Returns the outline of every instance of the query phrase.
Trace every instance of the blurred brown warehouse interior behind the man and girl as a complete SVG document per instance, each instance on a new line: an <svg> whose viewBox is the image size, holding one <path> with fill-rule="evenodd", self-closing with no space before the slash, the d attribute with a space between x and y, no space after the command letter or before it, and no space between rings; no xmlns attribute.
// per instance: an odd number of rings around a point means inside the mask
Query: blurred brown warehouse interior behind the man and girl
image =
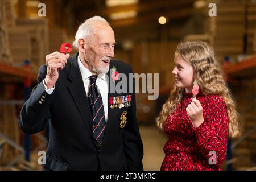
<svg viewBox="0 0 256 182"><path fill-rule="evenodd" d="M210 14L214 5L216 16ZM116 59L134 73L159 73L159 97L138 93L136 100L144 170L158 171L164 158L167 135L155 118L174 86L174 52L182 40L213 46L236 100L242 135L229 140L222 169L256 170L256 1L0 0L0 171L42 170L46 132L25 135L20 109L46 55L72 43L79 25L95 15L115 32Z"/></svg>

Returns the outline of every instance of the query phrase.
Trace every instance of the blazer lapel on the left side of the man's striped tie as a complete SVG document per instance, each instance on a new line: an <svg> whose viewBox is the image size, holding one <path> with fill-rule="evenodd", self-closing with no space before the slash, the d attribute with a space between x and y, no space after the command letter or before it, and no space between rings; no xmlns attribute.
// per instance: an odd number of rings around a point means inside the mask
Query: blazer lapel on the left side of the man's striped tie
<svg viewBox="0 0 256 182"><path fill-rule="evenodd" d="M71 80L71 84L68 85L68 89L79 109L89 134L92 134L92 114L90 112L89 102L86 96L79 65L77 63L77 56L78 53L73 56L71 60L71 68L68 76L69 80Z"/></svg>

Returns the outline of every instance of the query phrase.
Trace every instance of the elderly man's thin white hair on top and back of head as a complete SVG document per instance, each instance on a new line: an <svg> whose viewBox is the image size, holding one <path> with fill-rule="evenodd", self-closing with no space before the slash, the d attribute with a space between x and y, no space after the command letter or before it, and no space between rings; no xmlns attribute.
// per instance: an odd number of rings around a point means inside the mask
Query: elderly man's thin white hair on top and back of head
<svg viewBox="0 0 256 182"><path fill-rule="evenodd" d="M92 36L93 32L95 31L97 22L106 23L109 25L109 22L107 22L107 20L101 16L93 16L92 18L86 19L84 23L79 26L76 32L75 41L72 44L76 49L78 49L77 42L80 38L88 38Z"/></svg>

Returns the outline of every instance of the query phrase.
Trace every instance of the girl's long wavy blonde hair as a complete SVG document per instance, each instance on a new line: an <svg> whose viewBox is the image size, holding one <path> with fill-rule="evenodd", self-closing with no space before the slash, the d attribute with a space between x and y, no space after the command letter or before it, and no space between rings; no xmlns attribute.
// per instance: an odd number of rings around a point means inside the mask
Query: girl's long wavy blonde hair
<svg viewBox="0 0 256 182"><path fill-rule="evenodd" d="M199 88L204 95L217 94L224 98L228 107L229 136L238 137L240 135L240 124L238 122L236 104L225 83L212 46L202 41L181 42L177 46L176 54L192 66L194 78L197 80ZM184 88L176 88L176 86L171 90L170 97L164 103L162 111L156 118L156 125L160 129L164 129L166 118L176 109L176 105L181 101L184 92Z"/></svg>

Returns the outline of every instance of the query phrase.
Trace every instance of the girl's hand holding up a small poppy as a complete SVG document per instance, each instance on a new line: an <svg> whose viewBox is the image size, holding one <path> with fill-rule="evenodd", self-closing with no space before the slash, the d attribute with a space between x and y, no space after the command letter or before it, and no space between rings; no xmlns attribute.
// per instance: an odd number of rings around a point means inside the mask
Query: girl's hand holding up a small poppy
<svg viewBox="0 0 256 182"><path fill-rule="evenodd" d="M199 127L204 122L203 107L196 98L192 98L192 102L188 105L186 111L194 127Z"/></svg>

